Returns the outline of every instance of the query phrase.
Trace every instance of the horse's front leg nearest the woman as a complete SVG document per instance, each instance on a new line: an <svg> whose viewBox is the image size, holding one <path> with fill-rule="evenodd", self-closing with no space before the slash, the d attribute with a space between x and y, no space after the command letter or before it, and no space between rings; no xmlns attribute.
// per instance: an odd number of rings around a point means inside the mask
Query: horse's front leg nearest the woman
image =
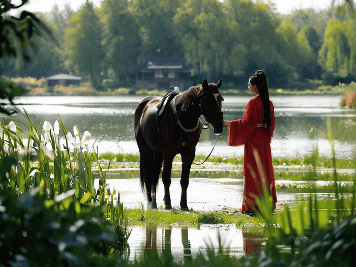
<svg viewBox="0 0 356 267"><path fill-rule="evenodd" d="M182 156L182 176L181 176L181 188L182 188L182 195L181 195L181 209L188 211L187 205L187 188L189 185L189 173L190 168L192 166L194 157L195 157L195 149L190 150L187 153L181 153Z"/></svg>

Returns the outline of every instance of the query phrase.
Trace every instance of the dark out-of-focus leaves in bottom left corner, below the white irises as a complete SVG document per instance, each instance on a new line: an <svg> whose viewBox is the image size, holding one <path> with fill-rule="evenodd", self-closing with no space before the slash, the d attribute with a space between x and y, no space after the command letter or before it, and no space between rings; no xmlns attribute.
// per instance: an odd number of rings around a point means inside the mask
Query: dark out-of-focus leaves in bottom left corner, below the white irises
<svg viewBox="0 0 356 267"><path fill-rule="evenodd" d="M4 158L2 159L4 160ZM1 181L11 165L1 164ZM3 186L6 186L2 183ZM98 219L102 207L87 206L71 198L73 191L46 199L41 188L18 196L10 190L0 198L0 249L3 266L83 266L100 262L98 244L111 246L115 236ZM106 252L107 254L107 252ZM45 255L45 256L44 256ZM115 266L114 257L104 260Z"/></svg>

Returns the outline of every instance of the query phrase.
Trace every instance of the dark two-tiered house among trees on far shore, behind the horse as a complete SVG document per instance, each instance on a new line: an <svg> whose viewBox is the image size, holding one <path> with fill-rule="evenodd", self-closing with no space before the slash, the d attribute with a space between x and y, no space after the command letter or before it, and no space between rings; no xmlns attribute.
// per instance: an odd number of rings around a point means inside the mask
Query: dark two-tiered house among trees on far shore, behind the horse
<svg viewBox="0 0 356 267"><path fill-rule="evenodd" d="M184 57L153 56L132 68L130 77L142 88L154 86L158 90L173 90L178 86L184 91L193 86L191 69L185 64Z"/></svg>

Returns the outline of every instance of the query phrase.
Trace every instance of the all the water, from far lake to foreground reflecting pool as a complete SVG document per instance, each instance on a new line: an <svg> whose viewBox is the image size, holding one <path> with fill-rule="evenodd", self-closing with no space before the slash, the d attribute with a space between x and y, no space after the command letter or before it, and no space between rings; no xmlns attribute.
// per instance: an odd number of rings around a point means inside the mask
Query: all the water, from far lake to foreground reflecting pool
<svg viewBox="0 0 356 267"><path fill-rule="evenodd" d="M32 120L43 123L45 120L54 123L58 114L67 131L73 133L76 124L81 133L90 131L91 143L98 145L99 153L138 153L134 137L134 110L141 96L41 96L20 97L14 102L17 108L24 108ZM223 112L225 120L241 118L251 97L224 97ZM335 135L337 157L352 157L356 145L355 123L356 110L340 109L341 96L283 96L272 97L275 105L276 130L271 149L273 157L291 157L309 155L314 146L318 145L321 156L331 156L330 143L320 135L313 137L311 128L319 128L327 132L327 117L330 116ZM3 117L2 123L14 120L16 125L25 122L20 116ZM314 131L315 132L315 131ZM202 132L197 146L197 154L210 153L216 136L212 129ZM244 153L243 146L226 145L226 132L220 138L212 156L240 157ZM288 183L277 181L278 183ZM141 192L138 177L136 179L107 180L111 189L120 190L121 202L127 208L140 207L146 203ZM95 181L98 188L98 180ZM157 204L163 206L163 184L159 180ZM171 201L179 206L181 187L180 179L172 179ZM196 211L220 211L224 207L239 208L243 196L242 180L239 179L206 179L191 177L188 187L188 206ZM278 205L294 205L306 193L277 193ZM331 194L317 194L318 199L330 198ZM244 255L257 252L265 242L260 233L250 231L248 227L236 228L232 225L201 225L200 229L184 225L144 224L130 226L129 259L141 253L152 252L160 257L172 256L175 261L191 260L206 248L206 243L215 250L219 248L218 234L224 241L224 253Z"/></svg>

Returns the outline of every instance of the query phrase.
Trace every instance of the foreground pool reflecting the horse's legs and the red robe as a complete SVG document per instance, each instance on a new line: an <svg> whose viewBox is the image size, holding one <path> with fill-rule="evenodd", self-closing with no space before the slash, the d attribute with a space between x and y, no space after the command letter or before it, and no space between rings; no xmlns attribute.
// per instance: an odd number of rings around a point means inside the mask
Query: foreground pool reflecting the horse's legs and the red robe
<svg viewBox="0 0 356 267"><path fill-rule="evenodd" d="M258 252L266 241L261 233L250 231L250 227L236 228L233 225L157 225L147 223L142 226L130 226L132 229L128 244L129 260L134 260L145 253L154 253L161 259L173 257L175 262L190 261L202 252L206 255L207 247L218 252L242 256ZM220 242L219 242L220 236Z"/></svg>

